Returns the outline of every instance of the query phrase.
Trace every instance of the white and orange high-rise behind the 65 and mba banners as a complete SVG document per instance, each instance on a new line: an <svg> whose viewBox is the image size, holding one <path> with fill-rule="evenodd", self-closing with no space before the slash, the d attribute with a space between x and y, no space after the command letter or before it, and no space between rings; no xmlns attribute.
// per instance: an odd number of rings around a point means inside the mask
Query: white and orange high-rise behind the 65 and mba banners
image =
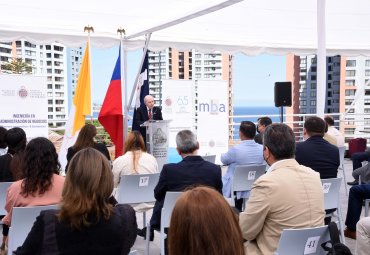
<svg viewBox="0 0 370 255"><path fill-rule="evenodd" d="M168 48L161 52L149 52L149 93L155 104L162 104L162 80L225 80L229 85L229 114L232 115L232 56L196 50L178 51ZM195 88L196 93L196 88ZM197 109L195 109L197 111ZM195 117L196 119L196 117ZM230 120L231 121L231 120ZM230 138L232 130L230 130Z"/></svg>

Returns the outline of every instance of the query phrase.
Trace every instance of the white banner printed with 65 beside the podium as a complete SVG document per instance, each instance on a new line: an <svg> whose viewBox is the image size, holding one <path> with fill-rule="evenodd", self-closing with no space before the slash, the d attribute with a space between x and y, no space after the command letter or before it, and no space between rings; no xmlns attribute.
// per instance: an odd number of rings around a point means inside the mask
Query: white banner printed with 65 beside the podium
<svg viewBox="0 0 370 255"><path fill-rule="evenodd" d="M162 115L172 120L169 126L169 146L176 148L176 134L194 129L194 81L162 81Z"/></svg>

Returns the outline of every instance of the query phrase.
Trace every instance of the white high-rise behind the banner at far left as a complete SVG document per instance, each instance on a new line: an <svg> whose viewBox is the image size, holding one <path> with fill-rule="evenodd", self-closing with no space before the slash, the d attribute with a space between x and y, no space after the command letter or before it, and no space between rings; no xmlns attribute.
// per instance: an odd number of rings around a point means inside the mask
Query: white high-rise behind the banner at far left
<svg viewBox="0 0 370 255"><path fill-rule="evenodd" d="M32 74L47 76L49 126L64 126L68 118L69 87L76 84L82 61L81 48L67 49L58 43L37 45L20 40L0 43L0 57L0 65L20 58L32 67Z"/></svg>

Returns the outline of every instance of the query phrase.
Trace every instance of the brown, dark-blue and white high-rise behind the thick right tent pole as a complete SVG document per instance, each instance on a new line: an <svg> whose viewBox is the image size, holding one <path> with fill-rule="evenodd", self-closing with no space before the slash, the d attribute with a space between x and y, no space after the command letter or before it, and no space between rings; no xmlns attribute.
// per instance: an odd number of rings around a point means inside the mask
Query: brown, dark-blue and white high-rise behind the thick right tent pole
<svg viewBox="0 0 370 255"><path fill-rule="evenodd" d="M370 131L370 88L364 84L370 78L370 58L333 56L326 58L325 113L344 114L341 131L346 141L363 131ZM287 80L292 81L292 107L287 114L316 113L316 56L287 56ZM358 92L355 100L356 91ZM354 104L353 104L354 102ZM353 104L353 105L352 105ZM339 120L339 116L335 117ZM287 121L299 121L299 117L288 117ZM296 124L295 128L298 128ZM362 133L363 134L363 133Z"/></svg>

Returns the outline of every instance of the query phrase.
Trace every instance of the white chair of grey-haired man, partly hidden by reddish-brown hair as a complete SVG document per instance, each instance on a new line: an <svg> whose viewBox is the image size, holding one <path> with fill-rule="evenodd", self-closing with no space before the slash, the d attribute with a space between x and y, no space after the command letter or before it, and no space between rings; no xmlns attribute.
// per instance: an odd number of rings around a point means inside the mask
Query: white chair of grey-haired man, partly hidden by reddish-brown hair
<svg viewBox="0 0 370 255"><path fill-rule="evenodd" d="M173 208L175 207L177 198L182 194L182 192L171 192L166 193L164 198L164 203L161 213L161 228L160 228L160 242L161 242L161 254L165 254L164 239L166 234L164 233L165 228L170 227L171 215ZM147 232L148 233L148 232ZM149 236L147 236L148 239Z"/></svg>

